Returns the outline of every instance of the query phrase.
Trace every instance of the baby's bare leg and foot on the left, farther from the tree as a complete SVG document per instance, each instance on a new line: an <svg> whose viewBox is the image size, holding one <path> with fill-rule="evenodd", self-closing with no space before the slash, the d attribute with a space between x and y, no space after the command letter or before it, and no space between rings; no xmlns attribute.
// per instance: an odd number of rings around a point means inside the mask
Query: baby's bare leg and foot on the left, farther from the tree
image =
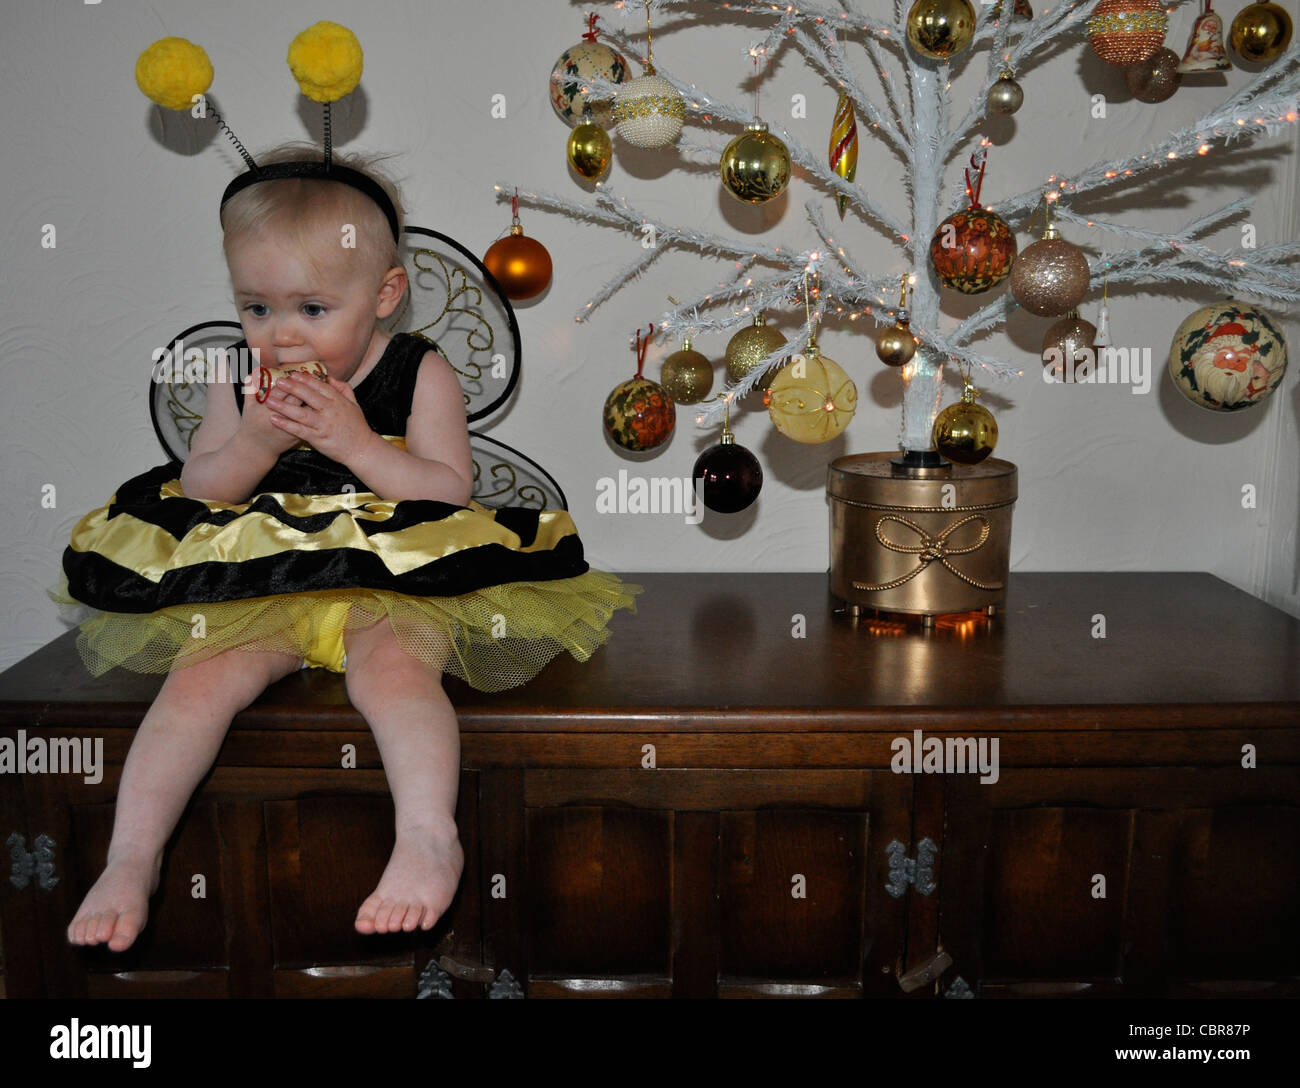
<svg viewBox="0 0 1300 1088"><path fill-rule="evenodd" d="M162 848L217 758L235 714L302 664L287 654L228 651L168 673L122 767L108 863L68 927L74 945L130 948L157 890Z"/></svg>

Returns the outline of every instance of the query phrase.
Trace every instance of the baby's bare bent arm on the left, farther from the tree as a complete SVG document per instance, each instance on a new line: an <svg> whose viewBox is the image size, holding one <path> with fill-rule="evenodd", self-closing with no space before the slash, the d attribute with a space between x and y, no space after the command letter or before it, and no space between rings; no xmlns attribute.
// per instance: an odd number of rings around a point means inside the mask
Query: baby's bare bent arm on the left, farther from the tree
<svg viewBox="0 0 1300 1088"><path fill-rule="evenodd" d="M298 438L270 421L270 399L259 404L256 398L246 396L240 413L230 389L233 381L238 381L237 374L218 373L208 382L203 422L181 473L181 489L190 498L242 503L276 459L298 445Z"/></svg>

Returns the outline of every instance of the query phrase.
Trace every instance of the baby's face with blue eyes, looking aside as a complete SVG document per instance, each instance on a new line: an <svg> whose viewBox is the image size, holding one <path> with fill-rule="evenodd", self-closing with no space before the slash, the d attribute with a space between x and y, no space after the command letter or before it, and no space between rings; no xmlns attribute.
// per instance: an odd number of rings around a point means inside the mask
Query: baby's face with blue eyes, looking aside
<svg viewBox="0 0 1300 1088"><path fill-rule="evenodd" d="M339 250L317 274L296 239L268 234L226 247L239 324L263 364L318 359L339 381L356 373L374 334L378 285L364 255Z"/></svg>

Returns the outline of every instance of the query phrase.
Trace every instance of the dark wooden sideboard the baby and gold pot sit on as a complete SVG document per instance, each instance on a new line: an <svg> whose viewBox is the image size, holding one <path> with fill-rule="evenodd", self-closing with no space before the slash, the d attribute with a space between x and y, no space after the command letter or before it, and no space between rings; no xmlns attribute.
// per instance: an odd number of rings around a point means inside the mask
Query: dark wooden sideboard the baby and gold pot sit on
<svg viewBox="0 0 1300 1088"><path fill-rule="evenodd" d="M105 763L0 775L8 994L1300 994L1300 620L1196 573L1013 573L931 630L824 575L625 577L586 664L448 681L465 875L430 933L352 929L393 807L304 671L235 719L136 945L68 945L160 680L90 679L73 633L0 675L0 737ZM996 781L892 766L959 738Z"/></svg>

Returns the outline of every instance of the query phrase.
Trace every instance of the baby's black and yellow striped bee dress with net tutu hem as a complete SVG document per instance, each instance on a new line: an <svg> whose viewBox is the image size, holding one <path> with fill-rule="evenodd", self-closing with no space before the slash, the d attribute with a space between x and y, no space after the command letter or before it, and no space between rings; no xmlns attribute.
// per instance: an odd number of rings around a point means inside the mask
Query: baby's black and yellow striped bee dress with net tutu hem
<svg viewBox="0 0 1300 1088"><path fill-rule="evenodd" d="M426 341L399 333L354 390L406 448ZM243 396L234 386L243 411ZM641 586L593 571L563 510L390 502L309 447L280 456L243 503L188 498L181 463L129 480L64 551L55 601L88 606L86 667L168 672L225 650L273 650L342 672L343 633L387 619L402 649L474 688L586 660Z"/></svg>

